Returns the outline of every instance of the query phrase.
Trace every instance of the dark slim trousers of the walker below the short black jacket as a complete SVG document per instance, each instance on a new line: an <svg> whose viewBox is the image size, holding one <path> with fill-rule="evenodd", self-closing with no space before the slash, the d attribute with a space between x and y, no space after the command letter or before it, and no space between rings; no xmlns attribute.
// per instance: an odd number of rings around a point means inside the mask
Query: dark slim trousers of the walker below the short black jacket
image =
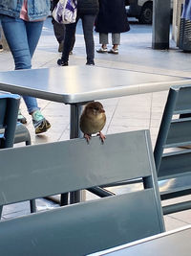
<svg viewBox="0 0 191 256"><path fill-rule="evenodd" d="M68 62L69 60L69 54L74 42L76 24L79 18L81 18L82 20L83 34L84 34L84 40L86 45L87 61L94 62L95 41L94 41L93 30L94 30L96 15L87 15L87 14L77 15L75 23L66 25L66 34L65 34L65 40L64 40L64 49L62 53L62 60L64 62Z"/></svg>

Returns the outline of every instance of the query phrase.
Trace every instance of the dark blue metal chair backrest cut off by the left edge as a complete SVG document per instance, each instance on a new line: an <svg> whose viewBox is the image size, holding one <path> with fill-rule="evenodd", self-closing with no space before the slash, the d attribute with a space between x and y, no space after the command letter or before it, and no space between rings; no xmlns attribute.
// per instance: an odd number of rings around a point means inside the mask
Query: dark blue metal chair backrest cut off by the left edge
<svg viewBox="0 0 191 256"><path fill-rule="evenodd" d="M0 94L0 149L13 146L19 102L19 95Z"/></svg>

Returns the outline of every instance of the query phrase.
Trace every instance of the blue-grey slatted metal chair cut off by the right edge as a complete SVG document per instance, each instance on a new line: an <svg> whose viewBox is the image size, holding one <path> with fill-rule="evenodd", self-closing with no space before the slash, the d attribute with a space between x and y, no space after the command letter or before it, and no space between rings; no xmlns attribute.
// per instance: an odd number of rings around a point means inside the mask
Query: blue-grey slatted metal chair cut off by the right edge
<svg viewBox="0 0 191 256"><path fill-rule="evenodd" d="M154 151L162 200L191 195L191 85L169 90ZM168 152L165 152L168 150ZM191 209L191 200L163 207L164 214Z"/></svg>

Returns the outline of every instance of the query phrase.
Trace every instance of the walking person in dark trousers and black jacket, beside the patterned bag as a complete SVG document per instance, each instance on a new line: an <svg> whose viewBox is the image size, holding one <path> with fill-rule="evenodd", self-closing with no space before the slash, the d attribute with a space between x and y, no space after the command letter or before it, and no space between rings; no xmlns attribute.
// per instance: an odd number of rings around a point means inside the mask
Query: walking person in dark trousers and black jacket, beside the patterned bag
<svg viewBox="0 0 191 256"><path fill-rule="evenodd" d="M57 60L57 64L68 66L69 54L73 45L73 38L78 20L81 18L84 40L86 45L87 65L95 65L95 41L94 26L96 14L98 13L98 0L77 0L77 16L75 23L66 25L66 35L62 58Z"/></svg>

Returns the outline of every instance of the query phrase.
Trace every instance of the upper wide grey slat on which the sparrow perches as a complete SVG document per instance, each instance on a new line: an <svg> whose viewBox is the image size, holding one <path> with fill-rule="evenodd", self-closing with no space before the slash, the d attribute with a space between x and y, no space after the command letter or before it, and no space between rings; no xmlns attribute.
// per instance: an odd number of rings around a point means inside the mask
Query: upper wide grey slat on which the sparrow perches
<svg viewBox="0 0 191 256"><path fill-rule="evenodd" d="M0 205L150 175L145 132L0 151Z"/></svg>

